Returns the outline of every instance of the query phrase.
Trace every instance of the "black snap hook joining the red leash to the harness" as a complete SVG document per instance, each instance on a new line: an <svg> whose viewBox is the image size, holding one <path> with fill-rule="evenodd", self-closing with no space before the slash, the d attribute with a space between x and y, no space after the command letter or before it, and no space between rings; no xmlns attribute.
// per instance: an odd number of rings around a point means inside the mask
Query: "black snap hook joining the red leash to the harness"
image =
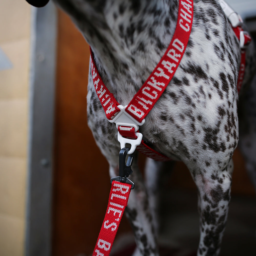
<svg viewBox="0 0 256 256"><path fill-rule="evenodd" d="M133 155L129 155L127 162L125 164L125 158L127 156L128 151L130 148L124 147L120 150L119 153L119 176L111 178L110 182L112 183L113 180L117 180L119 182L131 184L131 189L134 189L135 184L128 179L129 175L132 174L132 162L133 162Z"/></svg>

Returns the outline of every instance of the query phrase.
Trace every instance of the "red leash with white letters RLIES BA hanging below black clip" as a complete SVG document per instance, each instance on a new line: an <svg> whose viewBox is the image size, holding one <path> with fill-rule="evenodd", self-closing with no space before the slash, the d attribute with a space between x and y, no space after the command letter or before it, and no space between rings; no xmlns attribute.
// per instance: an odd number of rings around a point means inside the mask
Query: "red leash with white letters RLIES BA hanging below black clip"
<svg viewBox="0 0 256 256"><path fill-rule="evenodd" d="M131 184L113 181L111 185L108 208L92 256L110 254L116 232L131 192Z"/></svg>

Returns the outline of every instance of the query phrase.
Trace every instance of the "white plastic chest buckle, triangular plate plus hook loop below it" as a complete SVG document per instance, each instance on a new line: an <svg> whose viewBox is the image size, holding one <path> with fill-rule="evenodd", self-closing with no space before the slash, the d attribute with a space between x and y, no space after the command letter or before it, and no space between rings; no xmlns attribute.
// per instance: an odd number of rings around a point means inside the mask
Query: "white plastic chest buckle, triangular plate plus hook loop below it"
<svg viewBox="0 0 256 256"><path fill-rule="evenodd" d="M136 147L141 144L142 134L136 131L138 131L139 125L143 125L145 123L145 119L143 119L141 122L138 122L136 119L134 119L130 114L128 114L125 111L126 107L127 105L126 106L118 105L120 112L112 120L109 120L109 122L115 123L116 128L118 128L118 126L134 127L135 134L137 136L135 140L124 138L119 132L117 136L117 139L120 142L121 148L124 148L126 143L131 144L131 149L127 153L128 155L131 155L135 151Z"/></svg>

